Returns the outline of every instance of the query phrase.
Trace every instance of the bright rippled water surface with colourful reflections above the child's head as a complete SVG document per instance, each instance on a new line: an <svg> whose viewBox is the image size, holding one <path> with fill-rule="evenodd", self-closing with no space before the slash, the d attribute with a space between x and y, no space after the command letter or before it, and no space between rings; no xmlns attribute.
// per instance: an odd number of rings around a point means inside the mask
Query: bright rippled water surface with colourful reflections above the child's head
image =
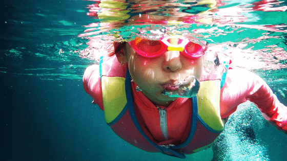
<svg viewBox="0 0 287 161"><path fill-rule="evenodd" d="M85 26L88 29L79 35L89 39L89 47L80 54L84 58L98 59L98 53L105 52L94 51L110 50L113 41L184 35L208 41L213 52L225 51L235 58L236 66L264 70L287 66L285 2L94 2L88 6L87 15L95 22Z"/></svg>

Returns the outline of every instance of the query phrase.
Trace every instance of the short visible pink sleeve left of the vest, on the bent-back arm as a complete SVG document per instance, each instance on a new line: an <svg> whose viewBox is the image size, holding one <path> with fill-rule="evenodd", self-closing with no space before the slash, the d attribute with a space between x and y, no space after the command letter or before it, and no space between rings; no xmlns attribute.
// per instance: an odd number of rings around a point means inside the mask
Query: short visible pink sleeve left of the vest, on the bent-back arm
<svg viewBox="0 0 287 161"><path fill-rule="evenodd" d="M83 85L86 92L94 99L93 103L97 104L101 110L104 110L99 65L94 64L86 68L83 76Z"/></svg>

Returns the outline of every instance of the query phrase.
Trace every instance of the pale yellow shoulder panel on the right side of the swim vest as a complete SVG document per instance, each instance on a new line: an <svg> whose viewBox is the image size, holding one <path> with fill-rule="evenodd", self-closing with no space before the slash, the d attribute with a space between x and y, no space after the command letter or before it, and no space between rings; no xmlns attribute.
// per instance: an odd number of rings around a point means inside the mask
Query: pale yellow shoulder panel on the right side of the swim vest
<svg viewBox="0 0 287 161"><path fill-rule="evenodd" d="M200 118L212 129L222 131L224 125L220 117L220 80L200 82L197 105Z"/></svg>

